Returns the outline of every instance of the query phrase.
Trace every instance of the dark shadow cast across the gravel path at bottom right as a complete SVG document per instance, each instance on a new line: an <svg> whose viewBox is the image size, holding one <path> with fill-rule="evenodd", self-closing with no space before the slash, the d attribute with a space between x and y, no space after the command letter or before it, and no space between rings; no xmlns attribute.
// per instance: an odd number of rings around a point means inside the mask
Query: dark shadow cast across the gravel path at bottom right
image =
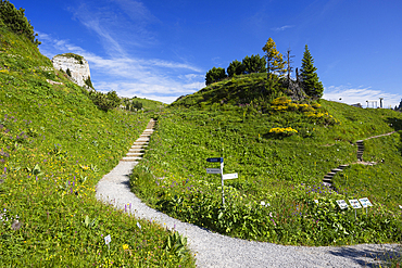
<svg viewBox="0 0 402 268"><path fill-rule="evenodd" d="M384 245L381 248L375 248L374 246L372 248L369 247L370 245L365 246L365 248L337 247L328 251L328 254L350 258L362 267L388 267L392 260L398 260L400 265L402 265L401 245Z"/></svg>

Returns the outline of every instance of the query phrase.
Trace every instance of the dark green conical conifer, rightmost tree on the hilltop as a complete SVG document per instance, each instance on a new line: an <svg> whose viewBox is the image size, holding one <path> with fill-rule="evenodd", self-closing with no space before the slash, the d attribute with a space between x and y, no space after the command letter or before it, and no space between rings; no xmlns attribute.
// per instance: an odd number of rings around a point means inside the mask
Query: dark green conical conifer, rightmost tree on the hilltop
<svg viewBox="0 0 402 268"><path fill-rule="evenodd" d="M313 98L322 98L324 92L323 84L318 80L317 68L313 65L314 59L309 51L307 44L302 60L302 67L300 69L301 81L305 93Z"/></svg>

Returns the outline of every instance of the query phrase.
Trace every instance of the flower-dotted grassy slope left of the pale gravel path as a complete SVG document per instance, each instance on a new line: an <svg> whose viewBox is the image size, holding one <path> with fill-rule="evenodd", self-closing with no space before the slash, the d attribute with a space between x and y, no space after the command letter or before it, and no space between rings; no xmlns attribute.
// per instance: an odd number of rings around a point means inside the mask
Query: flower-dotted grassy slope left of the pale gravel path
<svg viewBox="0 0 402 268"><path fill-rule="evenodd" d="M193 267L165 229L95 199L149 116L99 110L1 24L0 41L0 266Z"/></svg>

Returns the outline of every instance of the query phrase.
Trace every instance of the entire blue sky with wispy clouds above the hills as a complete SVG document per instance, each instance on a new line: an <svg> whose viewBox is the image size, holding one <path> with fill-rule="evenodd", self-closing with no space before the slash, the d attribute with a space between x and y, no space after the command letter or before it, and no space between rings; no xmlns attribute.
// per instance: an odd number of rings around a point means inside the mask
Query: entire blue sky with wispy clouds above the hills
<svg viewBox="0 0 402 268"><path fill-rule="evenodd" d="M262 55L271 37L282 54L292 50L294 67L309 46L325 99L402 99L400 0L11 2L26 10L45 55L85 56L103 92L171 103L204 87L210 68Z"/></svg>

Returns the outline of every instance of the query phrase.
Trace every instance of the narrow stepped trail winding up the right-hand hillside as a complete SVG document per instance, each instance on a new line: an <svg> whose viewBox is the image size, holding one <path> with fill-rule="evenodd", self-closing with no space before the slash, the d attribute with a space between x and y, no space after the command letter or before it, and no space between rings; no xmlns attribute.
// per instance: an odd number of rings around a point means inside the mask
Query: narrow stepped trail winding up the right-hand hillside
<svg viewBox="0 0 402 268"><path fill-rule="evenodd" d="M353 163L350 163L350 164L339 165L338 167L332 168L329 173L327 173L326 175L324 175L323 184L326 186L326 187L329 187L332 190L337 190L334 187L334 184L332 184L332 178L334 178L334 176L337 173L343 171L343 169L346 167L348 167L349 165L365 165L365 166L374 166L374 165L377 165L376 162L363 161L364 141L365 140L370 140L370 139L377 139L377 138L385 137L385 136L390 136L390 135L393 135L394 132L397 132L397 131L391 131L391 132L384 133L384 135L377 135L377 136L368 137L366 139L356 141L356 144L357 144L357 153L356 153L357 154L357 162L353 162Z"/></svg>

